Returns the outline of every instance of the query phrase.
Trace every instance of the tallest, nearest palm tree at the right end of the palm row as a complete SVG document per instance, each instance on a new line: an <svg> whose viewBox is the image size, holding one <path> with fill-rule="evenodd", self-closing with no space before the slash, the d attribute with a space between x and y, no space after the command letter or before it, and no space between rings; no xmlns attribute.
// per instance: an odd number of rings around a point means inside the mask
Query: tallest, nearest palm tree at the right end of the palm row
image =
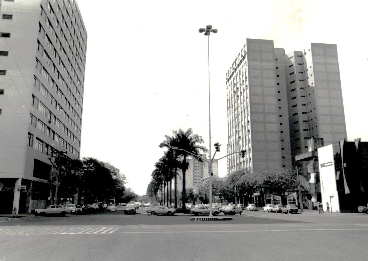
<svg viewBox="0 0 368 261"><path fill-rule="evenodd" d="M192 128L187 129L186 131L179 129L174 130L174 140L176 143L176 147L179 149L186 150L194 155L199 155L199 151L207 152L208 150L206 147L201 146L199 144L204 143L204 140L202 136L199 136L198 134L194 134ZM181 170L183 171L183 191L182 191L182 197L183 197L183 207L182 211L186 211L185 203L187 203L187 195L185 193L185 171L188 169L187 164L187 156L188 153L183 150L177 150L178 155L183 156L183 164L181 164Z"/></svg>

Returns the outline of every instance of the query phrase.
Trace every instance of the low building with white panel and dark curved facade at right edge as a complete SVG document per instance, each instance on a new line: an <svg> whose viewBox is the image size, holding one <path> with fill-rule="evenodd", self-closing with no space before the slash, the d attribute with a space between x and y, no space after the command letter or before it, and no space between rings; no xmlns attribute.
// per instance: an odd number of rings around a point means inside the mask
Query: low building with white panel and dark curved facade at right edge
<svg viewBox="0 0 368 261"><path fill-rule="evenodd" d="M368 202L368 142L341 140L318 149L321 201L334 212L357 212Z"/></svg>

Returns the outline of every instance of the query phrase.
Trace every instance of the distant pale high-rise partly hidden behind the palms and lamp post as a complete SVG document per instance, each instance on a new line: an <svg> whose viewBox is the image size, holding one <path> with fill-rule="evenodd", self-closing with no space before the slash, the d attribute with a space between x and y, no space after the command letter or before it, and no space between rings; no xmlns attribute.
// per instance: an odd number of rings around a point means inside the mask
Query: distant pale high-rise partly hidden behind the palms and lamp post
<svg viewBox="0 0 368 261"><path fill-rule="evenodd" d="M206 158L206 154L201 154L201 157ZM201 185L201 179L208 177L208 163L200 162L197 158L187 158L188 169L185 172L185 187L186 189L192 189L193 187L199 187ZM183 190L183 173L180 169L177 170L178 180L177 180L177 190ZM212 164L213 176L219 176L218 161Z"/></svg>

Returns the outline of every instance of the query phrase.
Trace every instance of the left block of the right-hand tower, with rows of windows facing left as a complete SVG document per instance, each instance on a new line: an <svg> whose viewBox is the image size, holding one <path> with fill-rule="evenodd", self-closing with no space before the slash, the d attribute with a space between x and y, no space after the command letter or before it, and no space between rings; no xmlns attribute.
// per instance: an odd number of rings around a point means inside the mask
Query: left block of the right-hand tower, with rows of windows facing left
<svg viewBox="0 0 368 261"><path fill-rule="evenodd" d="M282 51L272 40L247 39L227 71L227 150L245 150L228 157L228 174L291 165Z"/></svg>

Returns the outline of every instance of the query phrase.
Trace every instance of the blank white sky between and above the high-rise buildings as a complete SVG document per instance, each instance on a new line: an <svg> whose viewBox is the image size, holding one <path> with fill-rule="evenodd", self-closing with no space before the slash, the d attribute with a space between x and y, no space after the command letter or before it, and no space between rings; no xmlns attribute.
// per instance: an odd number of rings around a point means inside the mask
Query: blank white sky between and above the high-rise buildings
<svg viewBox="0 0 368 261"><path fill-rule="evenodd" d="M158 147L192 128L208 147L207 37L211 143L226 155L226 72L247 38L286 53L337 44L347 138L368 141L367 1L77 0L88 33L81 157L111 162L127 187L146 193ZM212 149L212 153L214 150ZM226 175L226 158L219 176Z"/></svg>

